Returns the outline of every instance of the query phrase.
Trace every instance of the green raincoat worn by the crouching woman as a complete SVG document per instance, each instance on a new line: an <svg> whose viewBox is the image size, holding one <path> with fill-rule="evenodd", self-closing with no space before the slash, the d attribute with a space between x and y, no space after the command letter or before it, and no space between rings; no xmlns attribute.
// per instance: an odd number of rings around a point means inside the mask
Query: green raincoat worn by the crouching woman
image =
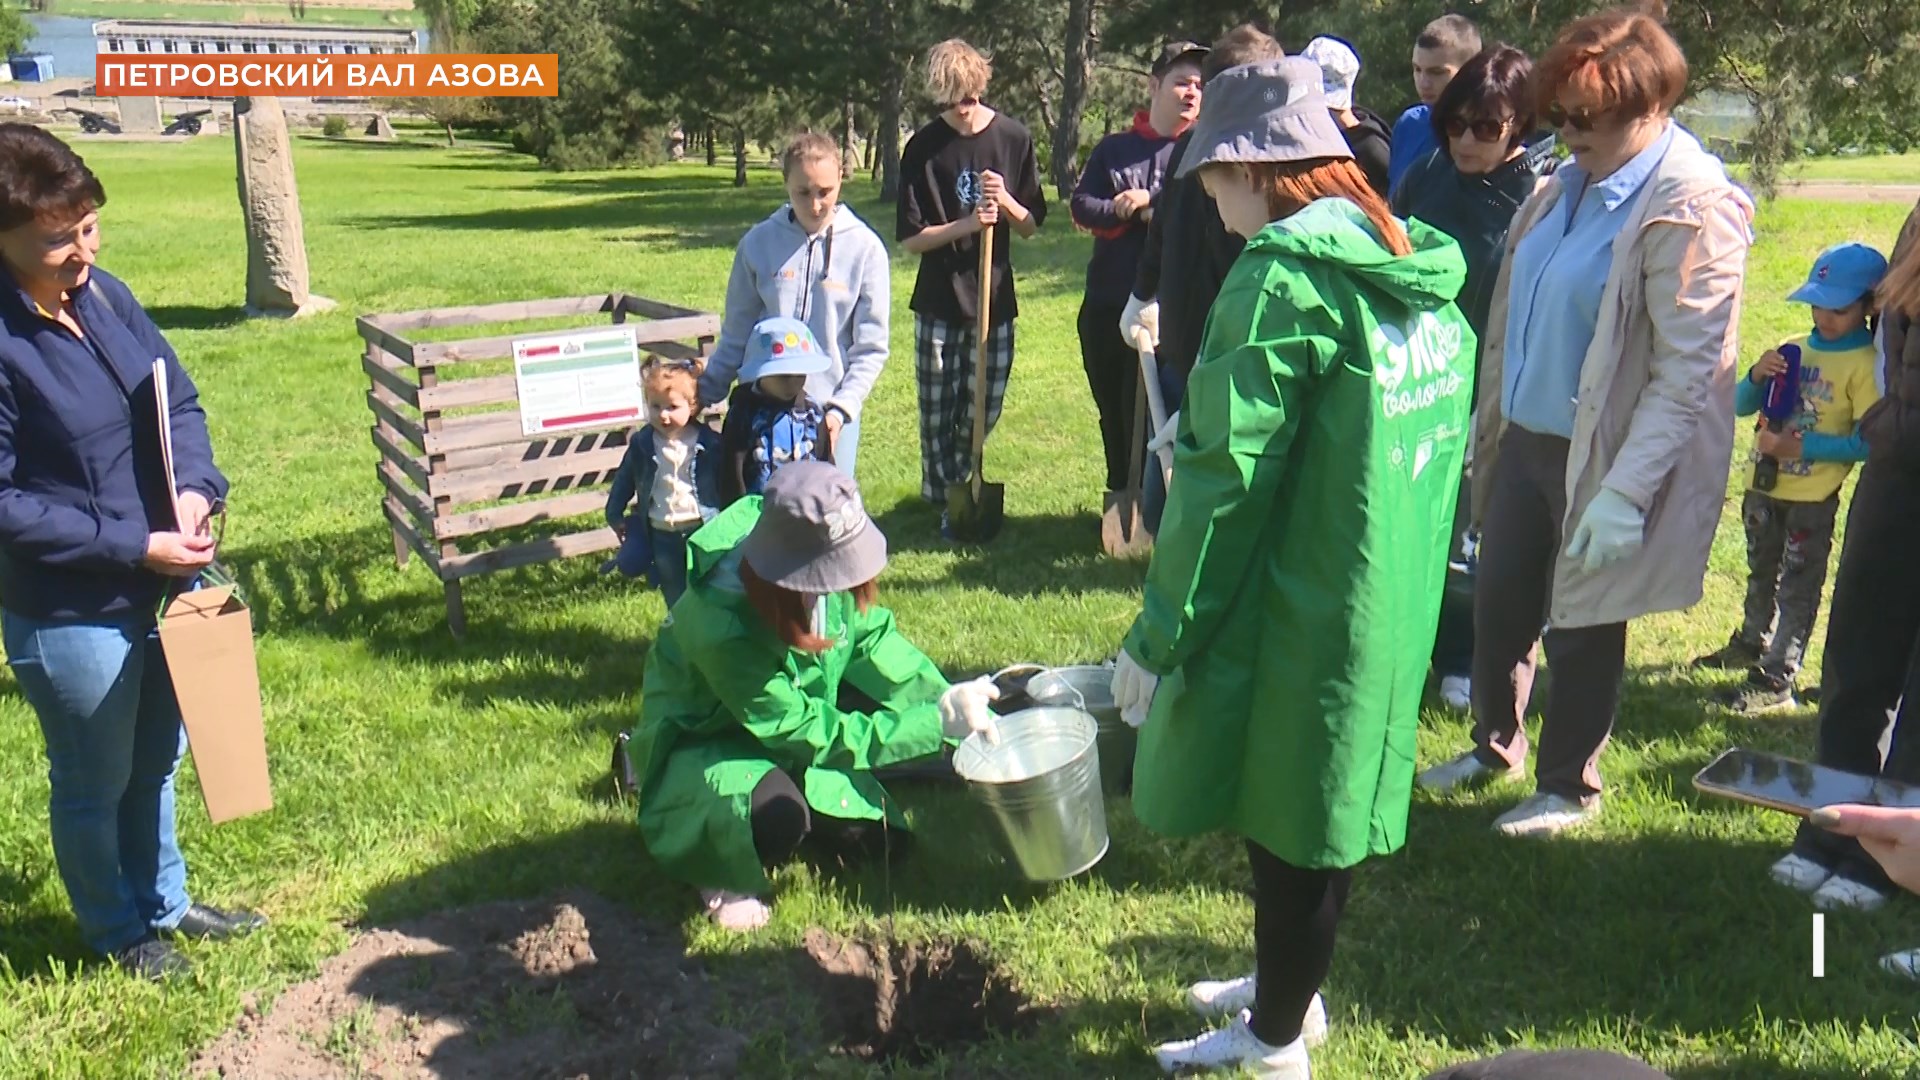
<svg viewBox="0 0 1920 1080"><path fill-rule="evenodd" d="M828 596L824 653L791 650L747 601L735 548L760 519L747 496L687 540L691 573L647 653L645 701L628 753L639 830L666 872L701 888L764 894L749 798L785 769L818 815L906 822L868 773L939 751L947 678L883 607ZM851 684L877 713L837 707ZM885 807L885 811L883 811Z"/></svg>

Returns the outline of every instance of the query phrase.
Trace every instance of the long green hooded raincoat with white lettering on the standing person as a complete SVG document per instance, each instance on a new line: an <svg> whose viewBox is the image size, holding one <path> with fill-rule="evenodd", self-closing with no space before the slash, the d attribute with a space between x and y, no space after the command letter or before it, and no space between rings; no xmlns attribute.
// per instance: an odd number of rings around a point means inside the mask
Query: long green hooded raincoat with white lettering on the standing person
<svg viewBox="0 0 1920 1080"><path fill-rule="evenodd" d="M1187 386L1125 648L1162 676L1133 807L1296 867L1405 842L1467 448L1459 246L1321 200L1248 240Z"/></svg>

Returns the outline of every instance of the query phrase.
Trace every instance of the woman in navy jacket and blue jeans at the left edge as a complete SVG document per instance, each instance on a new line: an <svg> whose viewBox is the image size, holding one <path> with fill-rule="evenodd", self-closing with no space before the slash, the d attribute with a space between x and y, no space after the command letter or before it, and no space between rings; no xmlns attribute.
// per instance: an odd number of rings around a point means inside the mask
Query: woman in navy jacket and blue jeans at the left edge
<svg viewBox="0 0 1920 1080"><path fill-rule="evenodd" d="M0 123L0 636L46 736L54 859L81 932L163 978L186 970L167 938L263 920L186 896L173 830L184 732L156 621L213 561L227 479L192 379L127 286L94 269L104 204L67 144Z"/></svg>

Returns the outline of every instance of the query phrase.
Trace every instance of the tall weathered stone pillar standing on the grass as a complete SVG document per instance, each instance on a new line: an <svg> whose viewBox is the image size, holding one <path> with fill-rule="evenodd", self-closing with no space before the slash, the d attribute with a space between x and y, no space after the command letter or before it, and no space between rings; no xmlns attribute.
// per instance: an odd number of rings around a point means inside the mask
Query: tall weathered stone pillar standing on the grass
<svg viewBox="0 0 1920 1080"><path fill-rule="evenodd" d="M248 315L298 319L332 309L332 300L307 292L294 140L278 98L234 98L234 160L246 217Z"/></svg>

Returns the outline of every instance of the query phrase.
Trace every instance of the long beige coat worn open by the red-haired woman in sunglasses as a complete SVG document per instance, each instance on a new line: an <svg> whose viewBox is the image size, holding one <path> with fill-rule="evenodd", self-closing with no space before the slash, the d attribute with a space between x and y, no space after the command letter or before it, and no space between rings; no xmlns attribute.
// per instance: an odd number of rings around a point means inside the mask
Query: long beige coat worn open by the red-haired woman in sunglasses
<svg viewBox="0 0 1920 1080"><path fill-rule="evenodd" d="M1486 513L1507 423L1501 386L1513 250L1548 219L1563 190L1559 183L1542 186L1507 233L1480 359L1475 521ZM1674 133L1615 242L1594 344L1580 365L1549 625L1605 626L1699 601L1734 459L1740 298L1751 244L1753 200L1692 135ZM1601 486L1645 511L1645 546L1588 571L1567 557L1565 542Z"/></svg>

